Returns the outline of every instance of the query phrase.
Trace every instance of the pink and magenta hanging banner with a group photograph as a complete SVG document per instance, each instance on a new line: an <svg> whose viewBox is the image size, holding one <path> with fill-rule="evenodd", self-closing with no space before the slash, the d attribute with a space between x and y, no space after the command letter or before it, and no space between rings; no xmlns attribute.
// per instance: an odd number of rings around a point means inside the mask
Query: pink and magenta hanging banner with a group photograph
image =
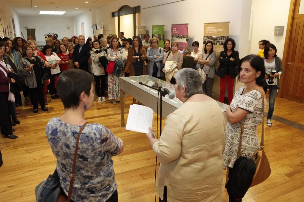
<svg viewBox="0 0 304 202"><path fill-rule="evenodd" d="M188 46L188 24L177 24L171 26L171 41L178 42L178 49L182 51Z"/></svg>

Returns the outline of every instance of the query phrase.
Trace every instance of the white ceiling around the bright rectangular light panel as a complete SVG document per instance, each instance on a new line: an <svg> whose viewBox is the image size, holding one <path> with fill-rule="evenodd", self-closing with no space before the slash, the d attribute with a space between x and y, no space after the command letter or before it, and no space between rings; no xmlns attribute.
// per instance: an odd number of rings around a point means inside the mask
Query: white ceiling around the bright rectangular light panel
<svg viewBox="0 0 304 202"><path fill-rule="evenodd" d="M88 1L89 3L85 3ZM62 17L74 17L93 8L101 8L114 0L6 0L19 16L39 16L39 11L66 11ZM38 8L34 8L38 6ZM78 7L78 9L75 9ZM43 15L40 15L43 16Z"/></svg>

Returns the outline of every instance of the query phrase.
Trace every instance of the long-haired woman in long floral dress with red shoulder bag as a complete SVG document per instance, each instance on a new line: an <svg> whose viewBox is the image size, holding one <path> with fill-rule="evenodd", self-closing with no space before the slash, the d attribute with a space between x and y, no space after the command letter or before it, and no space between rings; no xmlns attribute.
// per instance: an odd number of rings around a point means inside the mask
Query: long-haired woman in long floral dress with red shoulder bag
<svg viewBox="0 0 304 202"><path fill-rule="evenodd" d="M107 50L107 54L109 57L109 61L116 61L119 58L124 59L123 49L119 48L117 38L111 38L110 40L110 48ZM119 89L119 77L125 76L124 71L120 71L120 75L109 74L108 77L108 94L109 99L112 99L112 103L116 104L116 99L120 98L120 89ZM123 95L126 97L126 93Z"/></svg>

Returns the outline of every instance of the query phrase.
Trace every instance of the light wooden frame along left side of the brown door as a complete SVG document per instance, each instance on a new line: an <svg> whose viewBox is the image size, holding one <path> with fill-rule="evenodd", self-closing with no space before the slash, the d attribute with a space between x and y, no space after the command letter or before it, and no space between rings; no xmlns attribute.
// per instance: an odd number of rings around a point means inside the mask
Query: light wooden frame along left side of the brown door
<svg viewBox="0 0 304 202"><path fill-rule="evenodd" d="M304 0L302 0L304 1ZM303 18L304 14L299 15L296 12L299 12L299 5L300 5L300 0L290 0L290 7L289 7L289 14L288 14L288 22L287 22L287 28L286 28L286 36L285 36L285 44L284 44L284 51L283 51L283 58L282 58L282 65L283 65L283 71L286 70L286 65L287 65L287 51L288 51L288 47L290 45L290 35L291 35L291 31L292 31L292 21L293 18ZM283 97L283 92L285 91L285 82L286 81L286 77L283 75L282 81L280 86L282 86L282 90L278 91L278 97L282 98Z"/></svg>

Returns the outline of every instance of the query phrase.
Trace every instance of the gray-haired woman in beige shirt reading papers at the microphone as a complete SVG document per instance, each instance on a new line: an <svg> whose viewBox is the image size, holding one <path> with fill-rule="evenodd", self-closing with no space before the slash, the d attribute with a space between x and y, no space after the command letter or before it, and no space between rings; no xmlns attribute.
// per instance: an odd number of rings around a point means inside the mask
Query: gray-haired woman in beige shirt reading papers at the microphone
<svg viewBox="0 0 304 202"><path fill-rule="evenodd" d="M222 201L223 112L203 94L195 69L181 69L175 80L183 104L167 116L159 140L151 128L146 134L161 163L158 194L164 201Z"/></svg>

